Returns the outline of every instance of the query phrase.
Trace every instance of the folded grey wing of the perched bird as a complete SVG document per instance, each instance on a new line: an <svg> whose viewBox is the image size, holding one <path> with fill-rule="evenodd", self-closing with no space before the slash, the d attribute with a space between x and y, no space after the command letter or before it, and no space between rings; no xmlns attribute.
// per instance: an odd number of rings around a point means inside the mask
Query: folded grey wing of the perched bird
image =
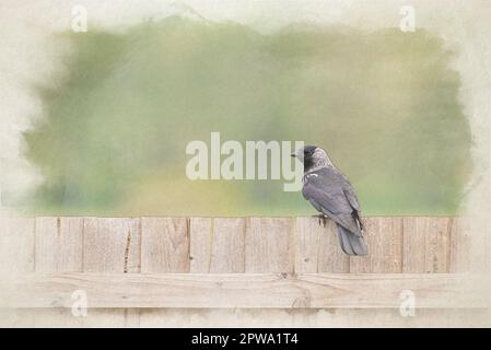
<svg viewBox="0 0 491 350"><path fill-rule="evenodd" d="M347 195L347 191L352 195ZM315 209L352 233L361 235L360 228L352 215L353 210L358 210L353 208L353 203L358 208L360 206L358 200L352 203L353 198L349 199L348 196L353 197L354 192L341 173L330 167L309 173L305 177L302 194Z"/></svg>

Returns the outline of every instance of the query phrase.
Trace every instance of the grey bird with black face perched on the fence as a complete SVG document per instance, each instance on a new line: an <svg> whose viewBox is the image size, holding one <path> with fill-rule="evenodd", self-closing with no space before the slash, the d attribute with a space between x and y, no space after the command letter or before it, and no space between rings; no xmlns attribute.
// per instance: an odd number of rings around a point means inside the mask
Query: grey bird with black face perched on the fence
<svg viewBox="0 0 491 350"><path fill-rule="evenodd" d="M360 202L348 177L331 162L327 152L316 145L299 148L293 158L304 165L302 195L320 212L320 220L332 220L338 229L342 252L350 256L365 256L369 247L363 240L364 230Z"/></svg>

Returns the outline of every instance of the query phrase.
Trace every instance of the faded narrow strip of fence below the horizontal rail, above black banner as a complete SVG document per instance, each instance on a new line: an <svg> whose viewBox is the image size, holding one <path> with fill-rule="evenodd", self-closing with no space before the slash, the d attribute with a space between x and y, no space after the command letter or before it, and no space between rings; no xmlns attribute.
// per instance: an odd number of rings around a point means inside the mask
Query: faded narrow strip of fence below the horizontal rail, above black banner
<svg viewBox="0 0 491 350"><path fill-rule="evenodd" d="M482 308L419 308L416 317L401 317L396 308L337 310L206 310L137 308L136 319L113 319L118 308L90 308L87 317L73 317L69 308L0 308L0 327L166 327L166 328L295 328L334 327L489 327L491 313Z"/></svg>

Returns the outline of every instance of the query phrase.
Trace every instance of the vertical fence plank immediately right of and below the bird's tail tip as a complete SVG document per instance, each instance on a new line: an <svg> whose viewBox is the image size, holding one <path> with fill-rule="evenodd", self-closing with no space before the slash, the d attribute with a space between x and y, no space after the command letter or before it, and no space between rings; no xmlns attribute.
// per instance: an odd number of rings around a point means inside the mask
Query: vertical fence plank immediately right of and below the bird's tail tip
<svg viewBox="0 0 491 350"><path fill-rule="evenodd" d="M402 218L374 217L365 218L363 222L369 255L350 257L350 272L401 272Z"/></svg>

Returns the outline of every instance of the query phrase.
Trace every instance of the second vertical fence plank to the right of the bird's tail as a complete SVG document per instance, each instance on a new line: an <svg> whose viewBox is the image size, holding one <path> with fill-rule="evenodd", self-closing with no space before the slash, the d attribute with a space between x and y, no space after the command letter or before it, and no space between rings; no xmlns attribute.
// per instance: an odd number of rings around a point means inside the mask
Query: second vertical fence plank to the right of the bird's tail
<svg viewBox="0 0 491 350"><path fill-rule="evenodd" d="M402 272L448 272L448 218L404 218Z"/></svg>

